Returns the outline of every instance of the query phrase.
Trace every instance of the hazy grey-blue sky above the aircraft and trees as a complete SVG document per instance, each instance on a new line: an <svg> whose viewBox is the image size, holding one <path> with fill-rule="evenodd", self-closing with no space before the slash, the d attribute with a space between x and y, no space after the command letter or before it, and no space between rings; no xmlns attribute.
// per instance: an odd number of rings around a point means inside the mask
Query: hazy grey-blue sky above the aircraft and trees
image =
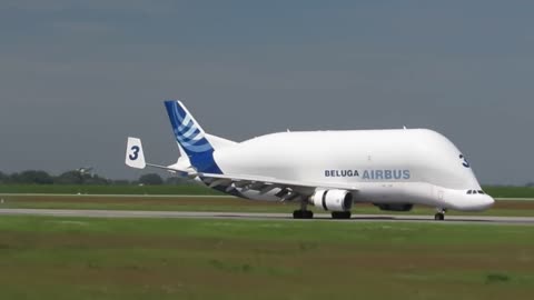
<svg viewBox="0 0 534 300"><path fill-rule="evenodd" d="M236 141L429 128L482 183L534 181L532 1L4 0L0 170L134 179L178 149L162 101Z"/></svg>

